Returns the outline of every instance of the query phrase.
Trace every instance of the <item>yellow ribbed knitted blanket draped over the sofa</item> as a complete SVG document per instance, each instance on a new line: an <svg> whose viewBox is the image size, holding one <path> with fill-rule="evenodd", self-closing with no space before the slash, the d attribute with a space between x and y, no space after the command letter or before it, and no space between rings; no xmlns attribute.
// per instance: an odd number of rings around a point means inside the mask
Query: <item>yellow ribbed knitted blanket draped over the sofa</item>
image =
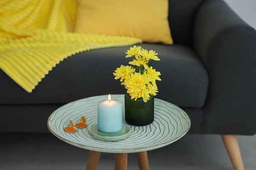
<svg viewBox="0 0 256 170"><path fill-rule="evenodd" d="M72 33L76 8L76 0L0 0L0 68L27 92L73 54L142 42Z"/></svg>

